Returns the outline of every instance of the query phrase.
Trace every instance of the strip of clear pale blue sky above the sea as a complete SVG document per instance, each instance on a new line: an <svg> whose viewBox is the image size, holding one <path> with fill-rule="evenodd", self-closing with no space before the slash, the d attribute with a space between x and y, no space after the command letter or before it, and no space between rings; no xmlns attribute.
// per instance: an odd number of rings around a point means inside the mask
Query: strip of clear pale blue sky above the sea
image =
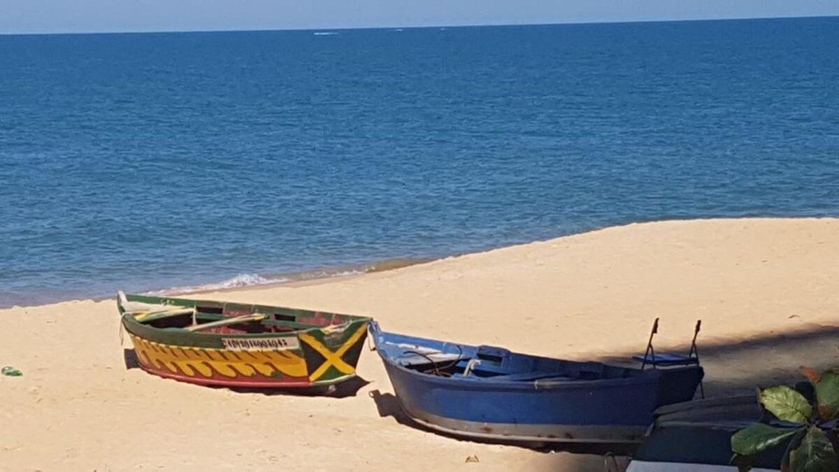
<svg viewBox="0 0 839 472"><path fill-rule="evenodd" d="M2 0L0 33L321 29L839 15L839 0Z"/></svg>

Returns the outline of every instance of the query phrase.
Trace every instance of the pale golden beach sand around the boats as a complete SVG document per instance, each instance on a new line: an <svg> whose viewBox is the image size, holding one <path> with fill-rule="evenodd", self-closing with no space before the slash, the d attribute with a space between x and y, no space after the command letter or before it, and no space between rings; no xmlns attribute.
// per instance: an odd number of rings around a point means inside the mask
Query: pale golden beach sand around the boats
<svg viewBox="0 0 839 472"><path fill-rule="evenodd" d="M799 380L800 364L839 364L839 219L638 223L201 297L368 315L394 332L574 359L643 353L654 317L657 348L685 349L701 318L706 393L719 396ZM237 393L127 369L118 322L113 301L0 311L0 365L24 374L0 377L0 469L602 469L594 454L400 424L367 350L358 374L368 383L354 395Z"/></svg>

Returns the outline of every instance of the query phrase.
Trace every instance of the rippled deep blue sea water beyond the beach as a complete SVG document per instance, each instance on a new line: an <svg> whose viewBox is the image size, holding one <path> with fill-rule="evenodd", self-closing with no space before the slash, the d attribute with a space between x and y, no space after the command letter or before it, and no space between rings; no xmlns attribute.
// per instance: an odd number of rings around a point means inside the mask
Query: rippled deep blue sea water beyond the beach
<svg viewBox="0 0 839 472"><path fill-rule="evenodd" d="M839 18L316 33L0 36L0 306L839 215Z"/></svg>

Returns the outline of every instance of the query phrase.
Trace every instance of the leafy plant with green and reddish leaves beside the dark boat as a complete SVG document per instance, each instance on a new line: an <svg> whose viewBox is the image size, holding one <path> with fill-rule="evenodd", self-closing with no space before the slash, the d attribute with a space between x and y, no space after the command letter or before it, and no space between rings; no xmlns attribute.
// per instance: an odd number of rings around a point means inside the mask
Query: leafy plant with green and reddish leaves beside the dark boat
<svg viewBox="0 0 839 472"><path fill-rule="evenodd" d="M800 391L779 385L758 390L758 403L779 422L756 422L732 436L732 462L751 469L763 450L789 441L781 469L795 472L833 472L839 469L836 444L839 439L839 369L819 375L801 367L810 380L810 400Z"/></svg>

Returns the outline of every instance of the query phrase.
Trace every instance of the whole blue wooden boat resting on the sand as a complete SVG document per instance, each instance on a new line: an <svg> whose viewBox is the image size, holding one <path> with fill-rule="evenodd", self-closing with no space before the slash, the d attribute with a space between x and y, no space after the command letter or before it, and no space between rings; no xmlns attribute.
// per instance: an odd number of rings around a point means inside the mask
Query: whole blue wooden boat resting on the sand
<svg viewBox="0 0 839 472"><path fill-rule="evenodd" d="M695 349L635 369L370 331L404 412L466 438L638 443L656 408L692 399L703 376Z"/></svg>

